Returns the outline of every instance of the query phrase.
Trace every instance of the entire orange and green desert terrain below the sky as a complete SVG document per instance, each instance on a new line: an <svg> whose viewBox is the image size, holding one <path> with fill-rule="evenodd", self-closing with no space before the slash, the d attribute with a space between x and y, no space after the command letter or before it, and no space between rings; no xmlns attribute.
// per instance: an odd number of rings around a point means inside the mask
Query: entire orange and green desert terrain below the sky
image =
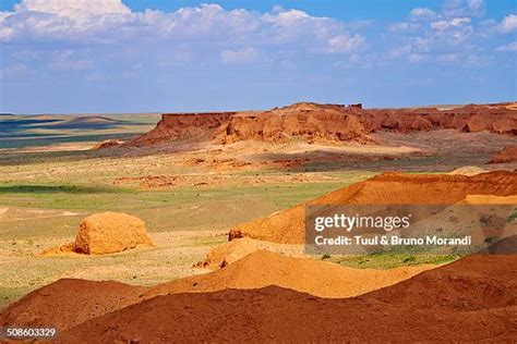
<svg viewBox="0 0 517 344"><path fill-rule="evenodd" d="M305 205L516 206L515 102L0 127L0 327L63 343L517 340L513 236L466 257L303 249Z"/></svg>

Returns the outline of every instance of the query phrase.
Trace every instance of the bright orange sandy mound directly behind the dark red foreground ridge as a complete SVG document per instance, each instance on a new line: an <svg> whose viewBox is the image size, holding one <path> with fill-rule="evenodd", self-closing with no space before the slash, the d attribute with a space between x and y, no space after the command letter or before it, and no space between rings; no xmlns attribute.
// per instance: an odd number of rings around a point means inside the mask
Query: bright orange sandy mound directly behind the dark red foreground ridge
<svg viewBox="0 0 517 344"><path fill-rule="evenodd" d="M390 270L353 269L311 258L292 258L258 250L228 267L153 287L145 297L169 293L203 293L226 288L278 285L320 297L350 297L371 292L435 266Z"/></svg>

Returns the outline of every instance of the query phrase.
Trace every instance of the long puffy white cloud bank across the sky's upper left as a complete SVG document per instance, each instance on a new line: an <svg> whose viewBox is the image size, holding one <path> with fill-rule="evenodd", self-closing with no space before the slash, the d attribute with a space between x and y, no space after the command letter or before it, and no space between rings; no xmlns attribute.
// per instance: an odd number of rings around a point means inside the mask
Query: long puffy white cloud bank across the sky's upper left
<svg viewBox="0 0 517 344"><path fill-rule="evenodd" d="M223 50L254 41L308 52L342 52L364 39L339 21L281 8L264 14L228 11L218 4L131 12L120 0L22 0L14 12L0 13L0 40L204 42L219 44Z"/></svg>

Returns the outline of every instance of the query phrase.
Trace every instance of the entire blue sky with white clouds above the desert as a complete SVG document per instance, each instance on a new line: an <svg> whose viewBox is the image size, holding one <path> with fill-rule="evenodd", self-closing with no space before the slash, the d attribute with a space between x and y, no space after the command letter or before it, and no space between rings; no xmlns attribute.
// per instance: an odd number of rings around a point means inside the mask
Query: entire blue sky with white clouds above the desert
<svg viewBox="0 0 517 344"><path fill-rule="evenodd" d="M515 0L1 0L0 112L517 100Z"/></svg>

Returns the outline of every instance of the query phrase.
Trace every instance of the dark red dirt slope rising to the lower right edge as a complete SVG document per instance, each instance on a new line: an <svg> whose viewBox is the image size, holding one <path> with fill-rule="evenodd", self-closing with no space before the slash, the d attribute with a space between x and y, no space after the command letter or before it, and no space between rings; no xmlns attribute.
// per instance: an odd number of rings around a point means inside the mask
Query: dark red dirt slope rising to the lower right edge
<svg viewBox="0 0 517 344"><path fill-rule="evenodd" d="M513 241L516 244L515 239ZM504 244L504 241L501 242ZM517 306L517 256L472 255L369 296L398 306L481 310ZM517 316L517 308L514 309ZM516 319L517 320L517 319Z"/></svg>

